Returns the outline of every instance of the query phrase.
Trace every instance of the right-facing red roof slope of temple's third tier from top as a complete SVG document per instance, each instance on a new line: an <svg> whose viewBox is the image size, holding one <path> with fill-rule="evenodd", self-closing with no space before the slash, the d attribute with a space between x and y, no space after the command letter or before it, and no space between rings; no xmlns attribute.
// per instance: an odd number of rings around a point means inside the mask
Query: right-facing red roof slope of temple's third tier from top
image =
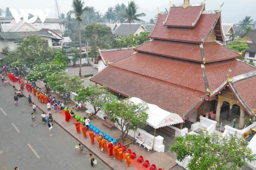
<svg viewBox="0 0 256 170"><path fill-rule="evenodd" d="M240 57L238 53L217 42L206 42L203 44L204 56L206 63L221 60L235 59Z"/></svg>

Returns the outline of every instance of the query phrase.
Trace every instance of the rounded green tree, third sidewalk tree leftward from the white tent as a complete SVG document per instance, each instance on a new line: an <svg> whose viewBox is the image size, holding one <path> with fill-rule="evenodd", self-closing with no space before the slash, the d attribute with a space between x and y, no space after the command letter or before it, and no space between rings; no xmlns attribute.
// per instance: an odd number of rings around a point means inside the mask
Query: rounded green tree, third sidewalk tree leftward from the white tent
<svg viewBox="0 0 256 170"><path fill-rule="evenodd" d="M46 80L51 90L68 94L68 98L72 92L78 92L84 87L83 80L78 75L69 76L64 72L54 72Z"/></svg>

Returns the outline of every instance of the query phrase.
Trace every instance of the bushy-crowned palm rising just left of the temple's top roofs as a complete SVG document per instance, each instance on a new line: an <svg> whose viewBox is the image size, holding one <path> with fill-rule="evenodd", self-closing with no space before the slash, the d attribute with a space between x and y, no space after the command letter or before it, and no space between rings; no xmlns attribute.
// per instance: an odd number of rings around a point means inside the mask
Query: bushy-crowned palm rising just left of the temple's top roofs
<svg viewBox="0 0 256 170"><path fill-rule="evenodd" d="M137 9L138 9L138 6L134 1L128 2L128 6L125 7L126 23L131 24L133 21L143 21L139 19L139 17L144 17L146 16L146 14L144 12L137 14Z"/></svg>

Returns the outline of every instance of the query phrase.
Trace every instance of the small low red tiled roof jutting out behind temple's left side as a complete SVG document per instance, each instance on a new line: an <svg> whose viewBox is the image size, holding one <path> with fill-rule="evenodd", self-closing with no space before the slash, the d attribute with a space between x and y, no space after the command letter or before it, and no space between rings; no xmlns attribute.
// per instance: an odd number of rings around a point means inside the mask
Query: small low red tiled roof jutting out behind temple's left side
<svg viewBox="0 0 256 170"><path fill-rule="evenodd" d="M105 61L114 62L119 60L123 57L129 56L130 54L135 53L134 50L117 50L117 51L102 51L101 56L104 58ZM106 65L106 63L105 63Z"/></svg>

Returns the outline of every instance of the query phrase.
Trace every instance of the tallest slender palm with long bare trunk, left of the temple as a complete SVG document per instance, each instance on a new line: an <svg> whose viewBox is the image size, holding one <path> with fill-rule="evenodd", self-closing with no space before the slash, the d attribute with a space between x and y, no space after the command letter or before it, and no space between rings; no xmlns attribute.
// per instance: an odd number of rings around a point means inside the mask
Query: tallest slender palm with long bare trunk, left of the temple
<svg viewBox="0 0 256 170"><path fill-rule="evenodd" d="M72 2L73 9L69 11L69 14L75 14L76 20L78 21L78 33L79 33L79 52L80 52L80 66L79 66L79 76L82 76L82 51L81 51L81 26L80 22L83 20L81 15L84 11L89 11L90 8L88 6L84 7L84 2L81 0L73 0Z"/></svg>

